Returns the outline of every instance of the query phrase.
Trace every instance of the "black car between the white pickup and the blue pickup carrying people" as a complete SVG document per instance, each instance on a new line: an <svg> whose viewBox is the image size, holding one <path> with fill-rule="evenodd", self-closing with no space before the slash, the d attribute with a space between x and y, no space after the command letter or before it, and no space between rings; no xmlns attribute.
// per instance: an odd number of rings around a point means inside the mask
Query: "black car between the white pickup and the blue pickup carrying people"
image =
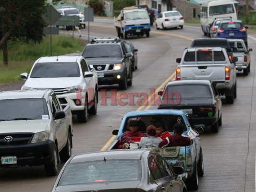
<svg viewBox="0 0 256 192"><path fill-rule="evenodd" d="M221 98L208 80L181 80L169 82L161 96L158 109L180 109L188 114L194 125L204 124L211 132L218 132L222 124Z"/></svg>

